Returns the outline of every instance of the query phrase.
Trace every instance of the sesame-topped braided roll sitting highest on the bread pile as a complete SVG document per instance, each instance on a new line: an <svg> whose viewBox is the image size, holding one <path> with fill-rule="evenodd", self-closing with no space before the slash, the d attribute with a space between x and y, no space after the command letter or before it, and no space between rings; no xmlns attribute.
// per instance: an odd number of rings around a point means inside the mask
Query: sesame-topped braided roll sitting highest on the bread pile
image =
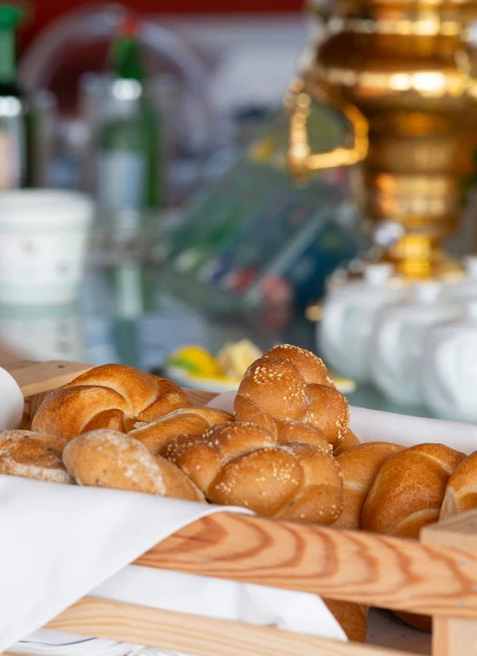
<svg viewBox="0 0 477 656"><path fill-rule="evenodd" d="M270 349L248 367L234 411L237 421L264 426L272 435L277 435L277 421L311 424L334 447L349 425L346 398L329 379L322 360L290 345Z"/></svg>

